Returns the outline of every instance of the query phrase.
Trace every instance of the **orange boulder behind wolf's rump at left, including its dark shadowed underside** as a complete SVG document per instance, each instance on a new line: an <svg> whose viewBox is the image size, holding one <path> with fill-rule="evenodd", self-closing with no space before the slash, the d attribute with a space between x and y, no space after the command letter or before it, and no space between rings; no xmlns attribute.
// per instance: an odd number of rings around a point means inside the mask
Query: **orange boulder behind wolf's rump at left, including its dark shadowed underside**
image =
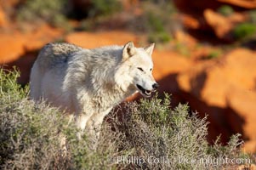
<svg viewBox="0 0 256 170"><path fill-rule="evenodd" d="M29 81L31 66L37 58L38 51L48 42L60 38L63 31L48 25L38 26L31 32L21 33L9 31L0 33L0 65L13 65L20 70L18 82L26 84Z"/></svg>

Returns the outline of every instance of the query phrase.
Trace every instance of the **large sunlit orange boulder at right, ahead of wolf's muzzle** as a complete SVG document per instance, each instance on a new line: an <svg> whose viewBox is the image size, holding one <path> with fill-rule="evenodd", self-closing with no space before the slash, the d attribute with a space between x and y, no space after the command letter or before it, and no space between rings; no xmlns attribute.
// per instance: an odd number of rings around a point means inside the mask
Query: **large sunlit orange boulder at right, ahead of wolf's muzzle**
<svg viewBox="0 0 256 170"><path fill-rule="evenodd" d="M226 107L226 92L230 86L253 89L256 79L255 53L247 49L236 49L219 61L203 61L190 71L179 75L180 88L196 92L196 97L208 105ZM192 83L200 83L197 86Z"/></svg>

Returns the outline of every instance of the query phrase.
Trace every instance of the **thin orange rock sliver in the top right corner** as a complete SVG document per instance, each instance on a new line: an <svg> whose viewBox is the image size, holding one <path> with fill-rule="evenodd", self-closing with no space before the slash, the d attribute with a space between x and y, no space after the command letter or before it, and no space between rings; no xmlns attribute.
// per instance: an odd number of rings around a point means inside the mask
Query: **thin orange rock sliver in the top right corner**
<svg viewBox="0 0 256 170"><path fill-rule="evenodd" d="M255 0L218 0L221 3L229 3L242 8L256 8Z"/></svg>

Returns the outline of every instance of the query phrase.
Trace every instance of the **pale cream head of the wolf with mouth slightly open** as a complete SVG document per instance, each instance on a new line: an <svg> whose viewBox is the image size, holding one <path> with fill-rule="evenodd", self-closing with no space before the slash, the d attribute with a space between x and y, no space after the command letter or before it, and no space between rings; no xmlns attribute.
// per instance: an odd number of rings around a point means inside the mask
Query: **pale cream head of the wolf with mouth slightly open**
<svg viewBox="0 0 256 170"><path fill-rule="evenodd" d="M145 97L150 97L151 92L156 91L159 86L152 76L151 54L154 46L152 43L146 48L135 48L134 42L128 42L122 49L122 65L125 65L125 70L128 71L123 76L128 77L129 83Z"/></svg>

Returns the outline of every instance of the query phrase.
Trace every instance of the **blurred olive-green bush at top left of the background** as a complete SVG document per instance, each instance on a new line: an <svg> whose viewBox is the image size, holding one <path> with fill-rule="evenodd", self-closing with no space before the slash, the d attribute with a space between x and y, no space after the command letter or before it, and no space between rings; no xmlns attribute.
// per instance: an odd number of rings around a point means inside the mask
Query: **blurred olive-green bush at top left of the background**
<svg viewBox="0 0 256 170"><path fill-rule="evenodd" d="M68 0L26 0L18 9L17 17L21 21L46 21L52 26L67 26L67 3Z"/></svg>

